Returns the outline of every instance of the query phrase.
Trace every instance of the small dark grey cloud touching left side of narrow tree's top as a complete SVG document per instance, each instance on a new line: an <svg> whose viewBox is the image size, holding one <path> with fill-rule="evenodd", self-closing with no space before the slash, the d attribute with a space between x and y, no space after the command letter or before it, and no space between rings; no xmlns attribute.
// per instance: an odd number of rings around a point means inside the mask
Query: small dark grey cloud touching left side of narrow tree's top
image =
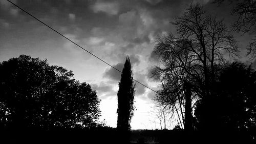
<svg viewBox="0 0 256 144"><path fill-rule="evenodd" d="M114 65L113 67L115 67L116 69L122 71L123 64L122 63L118 63L118 64ZM109 79L115 80L115 81L120 81L121 73L118 72L116 69L114 69L114 68L106 69L105 72L103 73L103 77L106 77L106 78L109 78Z"/></svg>

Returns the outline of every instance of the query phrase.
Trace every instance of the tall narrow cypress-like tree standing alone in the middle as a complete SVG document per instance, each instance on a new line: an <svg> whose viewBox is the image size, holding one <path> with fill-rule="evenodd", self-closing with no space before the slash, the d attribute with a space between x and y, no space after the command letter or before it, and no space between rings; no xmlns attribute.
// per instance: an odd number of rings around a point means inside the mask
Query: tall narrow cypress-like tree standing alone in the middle
<svg viewBox="0 0 256 144"><path fill-rule="evenodd" d="M120 131L129 131L131 129L130 122L134 114L134 88L133 76L131 70L130 58L127 56L124 68L121 74L119 90L117 93L118 109L117 109L117 129Z"/></svg>

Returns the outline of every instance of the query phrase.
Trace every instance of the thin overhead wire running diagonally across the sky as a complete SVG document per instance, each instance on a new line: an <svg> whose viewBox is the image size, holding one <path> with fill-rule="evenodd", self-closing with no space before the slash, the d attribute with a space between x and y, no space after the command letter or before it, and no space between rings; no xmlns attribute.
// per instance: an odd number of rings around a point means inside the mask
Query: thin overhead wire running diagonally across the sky
<svg viewBox="0 0 256 144"><path fill-rule="evenodd" d="M57 34L61 35L62 37L68 39L71 43L75 44L77 47L81 48L82 50L88 52L89 54L93 55L94 57L98 58L100 61L102 61L103 63L105 63L106 65L109 65L110 67L112 67L113 69L117 70L118 72L122 73L120 70L118 70L117 68L113 67L112 65L110 65L109 63L107 63L106 61L104 61L103 59L99 58L98 56L96 56L95 54L91 53L90 51L84 49L83 47L79 46L78 44L76 44L75 42L73 42L73 40L69 39L68 37L66 37L65 35L59 33L58 31L56 31L55 29L53 29L52 27L50 27L49 25L47 25L46 23L42 22L40 19L36 18L35 16L33 16L32 14L30 14L29 12L27 12L26 10L24 10L23 8L20 8L19 6L17 6L16 4L12 3L9 0L6 0L8 2L10 2L11 4L13 4L14 6L16 6L17 8L19 8L20 10L24 11L25 13L27 13L28 15L32 16L33 18L35 18L38 22L44 24L45 26L47 26L48 28L50 28L51 30L53 30L54 32L56 32ZM140 83L138 80L133 79L134 81L136 81L137 83L139 83L140 85L146 87L147 89L150 89L154 92L156 92L155 90L151 89L150 87L147 87L146 85ZM156 92L157 93L157 92Z"/></svg>

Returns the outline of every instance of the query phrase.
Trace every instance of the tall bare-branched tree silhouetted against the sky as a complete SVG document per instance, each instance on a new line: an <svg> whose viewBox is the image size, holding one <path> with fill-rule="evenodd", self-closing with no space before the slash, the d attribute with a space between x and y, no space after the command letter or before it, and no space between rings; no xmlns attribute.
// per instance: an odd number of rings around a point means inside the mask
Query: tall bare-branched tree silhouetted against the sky
<svg viewBox="0 0 256 144"><path fill-rule="evenodd" d="M154 49L161 58L161 66L153 73L162 82L156 100L180 112L178 118L181 116L182 122L188 118L186 125L190 129L194 107L191 102L210 95L211 83L225 63L223 51L236 55L238 47L222 20L206 15L199 4L190 5L172 24L177 27L177 35L159 37ZM189 112L184 112L184 105Z"/></svg>

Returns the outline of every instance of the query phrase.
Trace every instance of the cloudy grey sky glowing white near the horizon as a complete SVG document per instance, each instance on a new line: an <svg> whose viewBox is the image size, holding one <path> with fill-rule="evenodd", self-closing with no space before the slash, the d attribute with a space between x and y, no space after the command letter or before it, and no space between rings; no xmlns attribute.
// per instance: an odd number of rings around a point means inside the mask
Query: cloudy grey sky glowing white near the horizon
<svg viewBox="0 0 256 144"><path fill-rule="evenodd" d="M134 79L158 90L159 82L150 76L156 65L152 53L158 36L175 32L170 24L190 3L200 3L207 14L223 19L227 27L236 16L233 3L222 5L211 0L11 0L42 22L105 60L120 71L126 56L132 63ZM233 33L239 42L242 61L251 34ZM117 91L121 74L81 50L67 39L40 24L11 3L0 0L0 62L20 54L48 59L50 65L72 70L74 78L86 82L97 92L101 117L110 127L117 123ZM136 84L132 129L160 129L154 113L155 92ZM175 122L169 125L173 128Z"/></svg>

